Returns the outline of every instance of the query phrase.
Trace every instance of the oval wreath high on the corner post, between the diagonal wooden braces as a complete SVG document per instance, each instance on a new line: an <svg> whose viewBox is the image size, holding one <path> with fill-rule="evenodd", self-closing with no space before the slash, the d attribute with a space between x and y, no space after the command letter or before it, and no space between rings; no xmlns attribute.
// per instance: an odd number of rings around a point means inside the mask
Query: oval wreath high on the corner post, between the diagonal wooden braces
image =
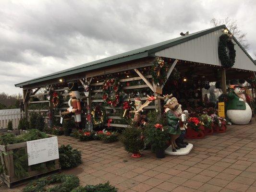
<svg viewBox="0 0 256 192"><path fill-rule="evenodd" d="M155 84L162 85L167 78L168 66L161 57L157 57L151 66L151 75Z"/></svg>

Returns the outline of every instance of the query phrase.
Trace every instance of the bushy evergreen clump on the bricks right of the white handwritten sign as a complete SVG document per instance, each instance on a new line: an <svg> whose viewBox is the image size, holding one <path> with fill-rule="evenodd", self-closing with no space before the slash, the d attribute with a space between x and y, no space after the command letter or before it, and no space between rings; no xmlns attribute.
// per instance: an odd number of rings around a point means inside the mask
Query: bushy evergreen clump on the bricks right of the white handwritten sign
<svg viewBox="0 0 256 192"><path fill-rule="evenodd" d="M82 163L81 152L73 149L71 145L61 145L59 147L61 168L75 168Z"/></svg>

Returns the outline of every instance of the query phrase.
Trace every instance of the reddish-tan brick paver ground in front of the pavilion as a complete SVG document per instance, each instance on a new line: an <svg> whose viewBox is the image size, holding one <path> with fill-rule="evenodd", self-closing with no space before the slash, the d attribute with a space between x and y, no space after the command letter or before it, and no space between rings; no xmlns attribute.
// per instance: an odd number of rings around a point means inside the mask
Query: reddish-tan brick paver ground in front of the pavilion
<svg viewBox="0 0 256 192"><path fill-rule="evenodd" d="M109 180L119 192L256 192L256 123L189 140L194 144L190 154L163 159L147 150L141 158L131 158L119 142L58 140L82 151L83 164L62 171L77 175L82 185Z"/></svg>

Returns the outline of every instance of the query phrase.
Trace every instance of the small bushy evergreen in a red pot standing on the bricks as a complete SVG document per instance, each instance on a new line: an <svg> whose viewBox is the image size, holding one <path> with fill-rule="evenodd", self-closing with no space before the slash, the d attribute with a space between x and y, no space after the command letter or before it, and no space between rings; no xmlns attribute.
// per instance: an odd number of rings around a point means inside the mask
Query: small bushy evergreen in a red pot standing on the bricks
<svg viewBox="0 0 256 192"><path fill-rule="evenodd" d="M141 157L140 151L144 148L144 138L142 136L142 130L131 124L126 127L120 137L120 141L124 145L124 149L128 153L132 153L132 157Z"/></svg>

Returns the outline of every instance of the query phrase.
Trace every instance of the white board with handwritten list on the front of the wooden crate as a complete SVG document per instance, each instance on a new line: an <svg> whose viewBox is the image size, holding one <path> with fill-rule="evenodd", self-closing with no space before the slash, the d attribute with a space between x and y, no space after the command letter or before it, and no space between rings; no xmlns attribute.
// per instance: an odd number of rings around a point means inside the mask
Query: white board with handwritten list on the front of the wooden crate
<svg viewBox="0 0 256 192"><path fill-rule="evenodd" d="M57 137L27 141L28 165L59 159Z"/></svg>

